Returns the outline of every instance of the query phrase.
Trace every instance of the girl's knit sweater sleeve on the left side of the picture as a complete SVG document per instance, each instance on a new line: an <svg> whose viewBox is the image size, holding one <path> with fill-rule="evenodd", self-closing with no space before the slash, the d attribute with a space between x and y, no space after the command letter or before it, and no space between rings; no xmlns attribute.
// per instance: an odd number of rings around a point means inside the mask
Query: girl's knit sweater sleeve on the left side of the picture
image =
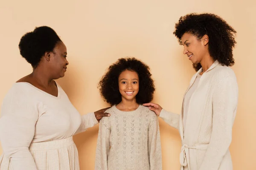
<svg viewBox="0 0 256 170"><path fill-rule="evenodd" d="M111 126L108 117L103 117L99 123L99 133L96 148L95 170L108 170L108 152L110 149Z"/></svg>

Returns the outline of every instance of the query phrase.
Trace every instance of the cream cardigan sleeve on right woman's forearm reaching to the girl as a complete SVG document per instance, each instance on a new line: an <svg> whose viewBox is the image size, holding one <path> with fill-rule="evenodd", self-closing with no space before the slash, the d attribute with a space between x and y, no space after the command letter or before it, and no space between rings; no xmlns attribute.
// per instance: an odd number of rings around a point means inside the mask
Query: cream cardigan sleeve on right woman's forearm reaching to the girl
<svg viewBox="0 0 256 170"><path fill-rule="evenodd" d="M159 117L162 118L166 123L168 123L168 125L176 128L176 129L179 129L179 125L180 125L180 115L179 114L168 112L168 111L162 109Z"/></svg>

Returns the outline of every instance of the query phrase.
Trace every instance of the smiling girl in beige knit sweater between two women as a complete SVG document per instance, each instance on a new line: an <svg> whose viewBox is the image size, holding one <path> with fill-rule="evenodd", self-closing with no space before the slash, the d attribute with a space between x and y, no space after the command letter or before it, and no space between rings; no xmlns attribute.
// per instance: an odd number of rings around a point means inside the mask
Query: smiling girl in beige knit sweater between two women
<svg viewBox="0 0 256 170"><path fill-rule="evenodd" d="M142 104L155 91L149 67L135 59L118 59L99 82L111 108L102 119L95 170L162 170L157 115Z"/></svg>

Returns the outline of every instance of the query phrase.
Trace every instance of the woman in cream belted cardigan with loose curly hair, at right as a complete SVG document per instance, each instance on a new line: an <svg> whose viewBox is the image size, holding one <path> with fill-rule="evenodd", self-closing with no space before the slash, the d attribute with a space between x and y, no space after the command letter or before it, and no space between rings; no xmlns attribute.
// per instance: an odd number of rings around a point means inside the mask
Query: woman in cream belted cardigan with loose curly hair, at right
<svg viewBox="0 0 256 170"><path fill-rule="evenodd" d="M238 102L234 64L236 31L215 14L188 14L175 25L175 36L196 74L183 97L181 113L145 104L179 129L183 170L232 170L229 146Z"/></svg>

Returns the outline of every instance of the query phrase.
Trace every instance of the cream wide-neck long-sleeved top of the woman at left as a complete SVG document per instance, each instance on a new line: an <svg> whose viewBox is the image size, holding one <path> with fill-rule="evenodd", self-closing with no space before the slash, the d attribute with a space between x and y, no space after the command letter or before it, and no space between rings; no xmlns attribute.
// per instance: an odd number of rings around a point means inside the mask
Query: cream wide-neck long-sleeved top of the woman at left
<svg viewBox="0 0 256 170"><path fill-rule="evenodd" d="M0 142L14 170L35 170L30 143L65 139L98 123L94 113L80 116L57 84L52 96L27 82L15 83L1 108Z"/></svg>

